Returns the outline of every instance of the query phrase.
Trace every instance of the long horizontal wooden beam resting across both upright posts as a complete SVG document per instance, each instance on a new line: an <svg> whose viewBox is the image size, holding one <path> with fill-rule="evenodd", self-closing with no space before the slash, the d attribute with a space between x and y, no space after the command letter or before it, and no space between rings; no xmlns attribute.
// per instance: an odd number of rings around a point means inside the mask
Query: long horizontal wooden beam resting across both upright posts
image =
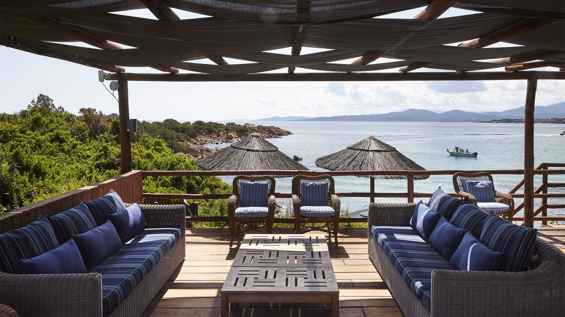
<svg viewBox="0 0 565 317"><path fill-rule="evenodd" d="M142 74L124 73L128 81L458 81L527 80L531 72L421 72L421 73L257 73L257 74ZM564 72L538 72L538 78L564 80ZM107 80L118 80L107 74Z"/></svg>

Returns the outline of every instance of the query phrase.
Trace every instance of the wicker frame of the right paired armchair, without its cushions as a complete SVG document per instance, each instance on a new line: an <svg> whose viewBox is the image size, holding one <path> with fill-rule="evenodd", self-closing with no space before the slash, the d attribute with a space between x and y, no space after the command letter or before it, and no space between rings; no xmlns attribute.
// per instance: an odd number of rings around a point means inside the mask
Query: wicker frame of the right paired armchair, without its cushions
<svg viewBox="0 0 565 317"><path fill-rule="evenodd" d="M326 206L332 207L334 215L331 217L307 217L301 214L301 183L303 180L310 182L328 182L328 202ZM337 232L340 226L341 202L340 197L336 195L335 183L331 176L296 175L292 179L292 202L294 210L294 230L297 234L302 234L312 230L323 231L329 234L329 241L332 241L332 235L334 236L337 246ZM316 226L315 223L323 224L321 226Z"/></svg>

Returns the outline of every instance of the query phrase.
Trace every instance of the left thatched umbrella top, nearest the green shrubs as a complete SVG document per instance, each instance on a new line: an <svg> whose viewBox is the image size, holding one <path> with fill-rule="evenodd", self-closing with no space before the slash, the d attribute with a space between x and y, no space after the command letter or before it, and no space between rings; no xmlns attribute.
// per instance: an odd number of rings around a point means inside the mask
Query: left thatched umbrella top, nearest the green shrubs
<svg viewBox="0 0 565 317"><path fill-rule="evenodd" d="M200 158L196 165L206 170L308 170L257 133Z"/></svg>

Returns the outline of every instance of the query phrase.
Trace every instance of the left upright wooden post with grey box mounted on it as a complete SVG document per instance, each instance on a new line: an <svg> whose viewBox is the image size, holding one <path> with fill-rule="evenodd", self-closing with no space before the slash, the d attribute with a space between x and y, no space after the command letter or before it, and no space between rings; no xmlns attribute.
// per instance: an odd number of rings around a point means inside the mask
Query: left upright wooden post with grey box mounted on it
<svg viewBox="0 0 565 317"><path fill-rule="evenodd" d="M120 114L120 170L121 174L132 170L132 136L126 131L129 119L128 81L118 81L118 99Z"/></svg>

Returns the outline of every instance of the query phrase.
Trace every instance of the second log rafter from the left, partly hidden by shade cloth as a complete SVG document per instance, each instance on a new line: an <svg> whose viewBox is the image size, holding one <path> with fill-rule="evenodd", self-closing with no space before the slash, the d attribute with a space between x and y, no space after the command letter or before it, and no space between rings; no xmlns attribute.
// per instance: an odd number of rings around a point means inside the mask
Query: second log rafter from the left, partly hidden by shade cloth
<svg viewBox="0 0 565 317"><path fill-rule="evenodd" d="M79 29L74 27L71 24L64 23L55 19L54 17L45 16L45 17L28 17L29 21L41 25L45 29L51 30L55 33L64 35L66 37L70 37L76 39L77 41L84 42L86 44L98 47L102 50L122 50L123 48L115 45L114 43L106 41L99 36L95 36L92 33L86 32L85 30ZM179 69L175 67L171 67L164 64L158 65L151 65L150 67L158 69L162 72L167 73L178 73Z"/></svg>

